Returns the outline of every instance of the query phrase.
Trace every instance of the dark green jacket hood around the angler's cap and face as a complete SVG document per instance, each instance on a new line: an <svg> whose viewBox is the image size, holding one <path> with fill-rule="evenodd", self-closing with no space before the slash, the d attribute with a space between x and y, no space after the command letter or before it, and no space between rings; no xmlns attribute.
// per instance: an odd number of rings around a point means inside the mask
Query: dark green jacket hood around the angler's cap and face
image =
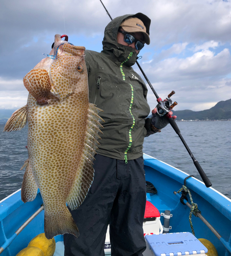
<svg viewBox="0 0 231 256"><path fill-rule="evenodd" d="M102 42L102 53L106 54L107 57L110 58L112 61L118 63L118 65L121 65L121 63L128 58L130 52L132 52L132 56L129 58L127 62L124 63L124 65L129 67L134 65L137 54L135 52L135 49L118 44L117 34L123 20L130 16L141 19L144 25L146 26L147 33L149 34L151 20L146 15L144 15L143 13L127 14L111 20L111 22L105 28L104 38Z"/></svg>

